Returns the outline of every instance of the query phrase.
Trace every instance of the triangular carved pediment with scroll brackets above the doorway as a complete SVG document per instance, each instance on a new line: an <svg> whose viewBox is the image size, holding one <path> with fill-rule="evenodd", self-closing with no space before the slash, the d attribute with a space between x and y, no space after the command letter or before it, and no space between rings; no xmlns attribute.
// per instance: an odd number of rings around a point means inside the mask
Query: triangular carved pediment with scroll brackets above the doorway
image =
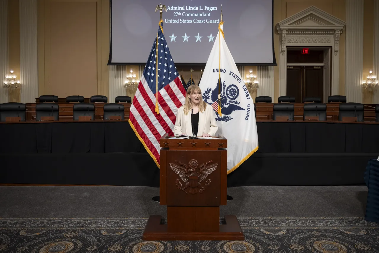
<svg viewBox="0 0 379 253"><path fill-rule="evenodd" d="M286 42L334 44L334 54L337 55L340 34L345 25L346 22L341 19L311 6L276 25L282 34L282 55L286 50Z"/></svg>

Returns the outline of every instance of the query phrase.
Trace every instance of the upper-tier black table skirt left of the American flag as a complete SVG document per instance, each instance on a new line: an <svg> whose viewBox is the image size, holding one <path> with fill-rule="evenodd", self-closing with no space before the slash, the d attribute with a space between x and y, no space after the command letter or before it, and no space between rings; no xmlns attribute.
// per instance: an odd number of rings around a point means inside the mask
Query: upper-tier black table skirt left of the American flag
<svg viewBox="0 0 379 253"><path fill-rule="evenodd" d="M0 124L0 153L146 152L128 122Z"/></svg>

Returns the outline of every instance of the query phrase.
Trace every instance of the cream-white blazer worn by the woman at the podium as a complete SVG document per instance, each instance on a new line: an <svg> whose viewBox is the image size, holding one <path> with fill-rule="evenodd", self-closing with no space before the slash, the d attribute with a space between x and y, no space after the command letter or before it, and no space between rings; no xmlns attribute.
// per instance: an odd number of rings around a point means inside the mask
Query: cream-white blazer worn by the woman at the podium
<svg viewBox="0 0 379 253"><path fill-rule="evenodd" d="M184 106L179 107L174 126L175 136L178 136L182 133L186 133L186 135L192 136L193 134L191 123L191 111L185 115ZM202 136L204 133L208 133L211 136L216 136L217 129L218 126L216 123L215 111L209 104L207 104L204 112L199 111L199 128L197 130L196 136Z"/></svg>

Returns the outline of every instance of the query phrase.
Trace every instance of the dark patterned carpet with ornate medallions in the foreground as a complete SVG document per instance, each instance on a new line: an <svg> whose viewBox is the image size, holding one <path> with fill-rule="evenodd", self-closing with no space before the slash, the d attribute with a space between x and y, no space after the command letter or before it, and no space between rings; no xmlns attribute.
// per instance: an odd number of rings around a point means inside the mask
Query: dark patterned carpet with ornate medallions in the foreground
<svg viewBox="0 0 379 253"><path fill-rule="evenodd" d="M379 224L363 218L238 220L244 241L146 242L147 218L0 218L0 253L379 252Z"/></svg>

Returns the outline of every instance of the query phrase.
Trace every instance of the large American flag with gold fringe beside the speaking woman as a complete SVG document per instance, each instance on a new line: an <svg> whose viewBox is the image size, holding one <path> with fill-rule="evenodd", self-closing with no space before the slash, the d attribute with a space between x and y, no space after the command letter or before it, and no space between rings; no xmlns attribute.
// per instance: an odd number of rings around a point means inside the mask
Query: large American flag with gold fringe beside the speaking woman
<svg viewBox="0 0 379 253"><path fill-rule="evenodd" d="M172 130L176 114L178 108L184 104L186 94L161 27L158 28L140 80L130 107L129 123L159 167L159 141L166 133L174 136ZM157 95L159 113L155 109Z"/></svg>

